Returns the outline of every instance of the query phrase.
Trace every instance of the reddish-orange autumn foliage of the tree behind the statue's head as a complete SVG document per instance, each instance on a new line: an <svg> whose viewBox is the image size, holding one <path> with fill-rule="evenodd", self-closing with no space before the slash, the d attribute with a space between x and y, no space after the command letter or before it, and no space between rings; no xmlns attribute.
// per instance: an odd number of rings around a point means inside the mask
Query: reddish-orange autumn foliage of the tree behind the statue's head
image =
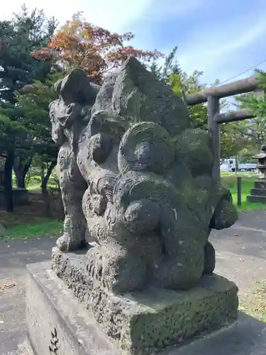
<svg viewBox="0 0 266 355"><path fill-rule="evenodd" d="M65 69L82 67L101 82L105 72L119 67L129 56L148 62L162 57L157 50L138 50L125 45L133 37L133 33L119 35L94 26L82 13L77 13L51 38L47 48L35 51L33 56L60 62Z"/></svg>

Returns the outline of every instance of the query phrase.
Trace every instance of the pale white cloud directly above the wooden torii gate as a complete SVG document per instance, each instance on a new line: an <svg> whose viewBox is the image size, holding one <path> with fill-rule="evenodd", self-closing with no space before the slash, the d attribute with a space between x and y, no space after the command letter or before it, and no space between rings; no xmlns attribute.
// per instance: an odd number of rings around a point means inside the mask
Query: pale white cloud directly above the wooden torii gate
<svg viewBox="0 0 266 355"><path fill-rule="evenodd" d="M179 46L180 65L187 72L195 69L204 71L207 82L213 82L216 77L222 81L227 80L254 65L254 62L248 64L248 57L255 43L265 37L266 22L261 17L248 23L246 26L245 19L242 19L241 22L236 20L235 25L213 28L213 31L208 28L199 31L189 43Z"/></svg>

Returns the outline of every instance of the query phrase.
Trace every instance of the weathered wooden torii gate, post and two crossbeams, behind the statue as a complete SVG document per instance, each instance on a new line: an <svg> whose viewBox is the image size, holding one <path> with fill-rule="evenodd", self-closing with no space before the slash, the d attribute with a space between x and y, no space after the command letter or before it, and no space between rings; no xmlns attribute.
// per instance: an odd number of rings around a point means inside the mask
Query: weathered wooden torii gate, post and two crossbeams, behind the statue
<svg viewBox="0 0 266 355"><path fill-rule="evenodd" d="M241 121L243 119L252 119L253 113L248 109L240 109L238 111L229 111L220 114L219 100L223 97L244 94L245 92L263 92L258 89L259 81L257 77L248 77L244 80L237 80L229 84L223 84L218 87L206 89L202 92L189 94L185 97L188 105L195 105L207 102L208 112L208 128L214 137L214 169L213 176L218 182L221 181L220 158L221 158L221 142L220 142L220 126L225 122Z"/></svg>

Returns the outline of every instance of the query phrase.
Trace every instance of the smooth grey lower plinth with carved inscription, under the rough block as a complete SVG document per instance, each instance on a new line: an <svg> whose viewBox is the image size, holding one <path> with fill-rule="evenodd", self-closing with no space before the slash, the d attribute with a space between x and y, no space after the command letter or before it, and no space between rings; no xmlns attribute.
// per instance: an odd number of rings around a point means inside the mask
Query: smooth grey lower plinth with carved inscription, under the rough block
<svg viewBox="0 0 266 355"><path fill-rule="evenodd" d="M49 268L48 261L28 266L26 318L35 355L56 354L49 350L55 329L57 355L124 354L118 350L117 341L102 332L92 313ZM264 355L265 335L264 322L240 312L230 327L195 337L189 344L167 347L157 355Z"/></svg>

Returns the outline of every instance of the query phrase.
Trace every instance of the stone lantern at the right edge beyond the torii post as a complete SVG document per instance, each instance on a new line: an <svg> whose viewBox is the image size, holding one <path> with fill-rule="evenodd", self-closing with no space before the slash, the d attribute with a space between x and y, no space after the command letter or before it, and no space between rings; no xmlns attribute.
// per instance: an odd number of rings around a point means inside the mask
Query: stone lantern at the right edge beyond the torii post
<svg viewBox="0 0 266 355"><path fill-rule="evenodd" d="M247 196L249 202L266 203L266 144L261 147L260 153L253 156L257 159L257 169L260 170L258 181L250 190L250 196Z"/></svg>

